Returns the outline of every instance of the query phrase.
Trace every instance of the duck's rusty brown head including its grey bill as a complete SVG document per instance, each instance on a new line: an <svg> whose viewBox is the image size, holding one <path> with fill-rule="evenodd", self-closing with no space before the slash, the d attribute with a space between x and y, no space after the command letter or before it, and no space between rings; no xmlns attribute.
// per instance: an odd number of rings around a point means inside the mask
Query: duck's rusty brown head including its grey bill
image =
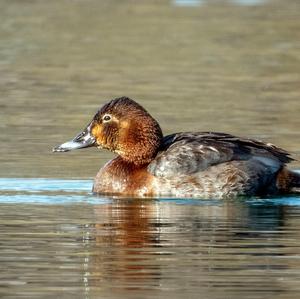
<svg viewBox="0 0 300 299"><path fill-rule="evenodd" d="M156 156L161 140L162 131L156 120L135 101L122 97L105 104L82 133L54 151L96 145L142 165Z"/></svg>

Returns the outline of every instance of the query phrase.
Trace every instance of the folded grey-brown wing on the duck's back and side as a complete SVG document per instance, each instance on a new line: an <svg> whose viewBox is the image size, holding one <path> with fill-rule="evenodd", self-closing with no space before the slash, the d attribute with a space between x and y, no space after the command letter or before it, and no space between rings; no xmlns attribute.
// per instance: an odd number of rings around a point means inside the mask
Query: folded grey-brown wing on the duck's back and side
<svg viewBox="0 0 300 299"><path fill-rule="evenodd" d="M148 171L154 176L171 177L193 174L228 161L250 159L278 169L293 160L285 150L254 139L216 132L177 133L164 137Z"/></svg>

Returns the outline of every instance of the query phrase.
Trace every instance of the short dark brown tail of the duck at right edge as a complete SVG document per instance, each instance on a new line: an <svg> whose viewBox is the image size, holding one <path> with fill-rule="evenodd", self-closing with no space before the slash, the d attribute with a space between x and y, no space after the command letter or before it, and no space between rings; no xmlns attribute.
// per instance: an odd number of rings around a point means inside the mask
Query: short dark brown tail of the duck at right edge
<svg viewBox="0 0 300 299"><path fill-rule="evenodd" d="M283 167L277 174L276 186L283 193L300 193L300 173Z"/></svg>

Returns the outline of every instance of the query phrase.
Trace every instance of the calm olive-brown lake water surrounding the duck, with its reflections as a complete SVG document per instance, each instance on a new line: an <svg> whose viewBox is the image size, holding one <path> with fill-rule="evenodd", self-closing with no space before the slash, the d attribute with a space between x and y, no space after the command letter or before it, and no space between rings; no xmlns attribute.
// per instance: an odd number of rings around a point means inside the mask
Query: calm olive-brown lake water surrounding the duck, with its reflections
<svg viewBox="0 0 300 299"><path fill-rule="evenodd" d="M0 25L1 298L299 298L300 197L96 197L112 155L51 149L126 95L299 159L300 1L0 0Z"/></svg>

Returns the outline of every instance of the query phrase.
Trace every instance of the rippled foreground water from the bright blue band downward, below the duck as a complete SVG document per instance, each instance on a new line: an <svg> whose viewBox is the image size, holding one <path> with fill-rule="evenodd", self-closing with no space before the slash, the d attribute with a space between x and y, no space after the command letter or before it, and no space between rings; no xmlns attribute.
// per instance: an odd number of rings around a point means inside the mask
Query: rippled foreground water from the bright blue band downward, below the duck
<svg viewBox="0 0 300 299"><path fill-rule="evenodd" d="M298 298L300 198L110 199L0 180L1 298Z"/></svg>

